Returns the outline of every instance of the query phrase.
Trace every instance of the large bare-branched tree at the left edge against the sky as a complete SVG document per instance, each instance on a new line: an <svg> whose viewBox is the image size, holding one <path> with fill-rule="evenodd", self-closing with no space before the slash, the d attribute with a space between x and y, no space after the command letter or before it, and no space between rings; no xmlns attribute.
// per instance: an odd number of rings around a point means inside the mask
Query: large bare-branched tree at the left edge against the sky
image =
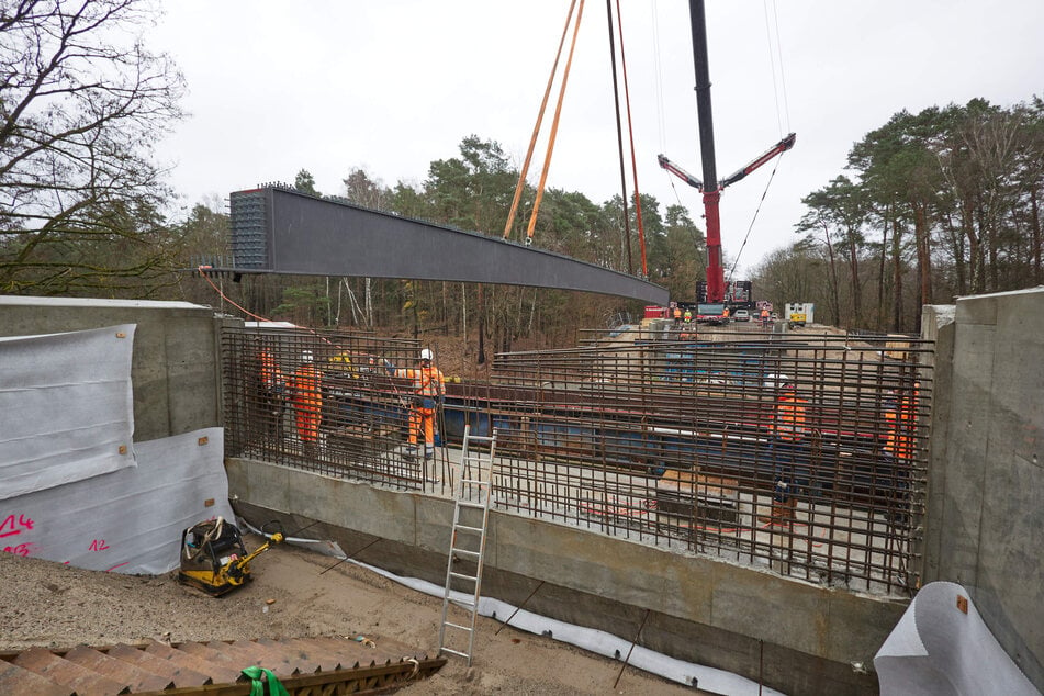
<svg viewBox="0 0 1044 696"><path fill-rule="evenodd" d="M0 0L0 291L117 294L169 265L151 144L184 80L141 43L155 16L146 0Z"/></svg>

